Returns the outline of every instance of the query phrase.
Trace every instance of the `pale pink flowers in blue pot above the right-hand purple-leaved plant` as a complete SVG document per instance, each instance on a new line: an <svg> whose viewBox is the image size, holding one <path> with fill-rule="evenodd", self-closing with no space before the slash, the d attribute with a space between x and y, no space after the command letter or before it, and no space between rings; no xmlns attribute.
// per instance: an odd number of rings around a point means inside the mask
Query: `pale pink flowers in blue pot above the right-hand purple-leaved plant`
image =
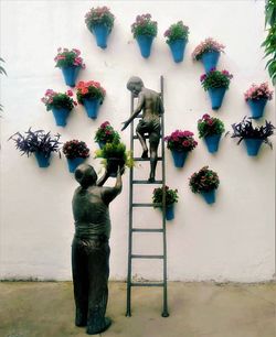
<svg viewBox="0 0 276 337"><path fill-rule="evenodd" d="M258 119L264 115L267 100L273 99L273 91L269 90L267 83L253 84L244 94L244 98L251 108L252 118Z"/></svg>

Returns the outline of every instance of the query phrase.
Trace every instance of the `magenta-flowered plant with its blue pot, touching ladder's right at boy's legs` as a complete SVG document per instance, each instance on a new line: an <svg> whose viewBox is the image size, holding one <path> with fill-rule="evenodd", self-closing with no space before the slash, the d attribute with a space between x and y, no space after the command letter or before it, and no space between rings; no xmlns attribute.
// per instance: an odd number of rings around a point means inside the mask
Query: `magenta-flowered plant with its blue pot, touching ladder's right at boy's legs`
<svg viewBox="0 0 276 337"><path fill-rule="evenodd" d="M183 167L188 153L198 145L198 142L193 139L193 133L187 130L176 130L167 135L164 141L167 148L171 150L176 167Z"/></svg>

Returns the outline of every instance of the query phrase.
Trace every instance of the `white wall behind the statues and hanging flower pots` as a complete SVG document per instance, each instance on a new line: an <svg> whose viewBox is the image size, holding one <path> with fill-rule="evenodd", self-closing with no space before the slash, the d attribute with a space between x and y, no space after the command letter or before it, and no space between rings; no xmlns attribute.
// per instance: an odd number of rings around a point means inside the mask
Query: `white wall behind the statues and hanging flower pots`
<svg viewBox="0 0 276 337"><path fill-rule="evenodd" d="M118 130L129 115L126 83L140 76L146 86L159 90L164 76L166 134L176 129L197 133L197 120L206 112L231 123L248 113L243 93L252 83L269 80L259 45L264 40L264 1L105 1L116 15L107 50L95 44L84 15L96 1L1 1L1 56L8 77L1 77L4 111L1 118L1 227L0 278L41 280L71 279L71 241L74 224L71 199L77 184L67 172L66 161L57 156L46 170L33 157L20 156L7 139L17 131L33 129L60 132L62 141L77 138L92 152L96 128L109 120ZM137 14L149 12L158 21L158 37L151 57L144 59L130 33ZM162 33L173 22L190 26L185 58L174 64ZM208 95L200 85L203 73L193 63L195 45L213 36L226 45L219 67L234 78L223 107L212 112ZM70 117L66 128L54 123L40 98L47 88L66 90L53 57L59 46L77 47L87 65L79 79L99 80L107 90L96 121L83 107ZM274 122L274 102L266 108ZM129 144L129 130L121 133ZM100 168L98 161L88 163ZM188 178L203 165L219 173L217 202L208 206L189 189ZM148 167L138 174L147 176ZM202 141L189 155L182 170L174 168L167 151L167 183L179 189L176 219L168 222L169 280L216 280L254 282L272 280L275 272L275 151L263 145L258 157L248 157L243 144L223 139L217 154L208 153ZM114 181L110 182L112 184ZM127 272L128 173L124 192L112 204L110 276L123 280ZM137 199L151 197L140 187ZM140 213L139 213L140 215ZM158 210L142 213L139 224L151 226L160 219ZM136 246L142 252L156 252L160 242L152 235L141 236ZM138 278L158 279L158 262L135 265Z"/></svg>

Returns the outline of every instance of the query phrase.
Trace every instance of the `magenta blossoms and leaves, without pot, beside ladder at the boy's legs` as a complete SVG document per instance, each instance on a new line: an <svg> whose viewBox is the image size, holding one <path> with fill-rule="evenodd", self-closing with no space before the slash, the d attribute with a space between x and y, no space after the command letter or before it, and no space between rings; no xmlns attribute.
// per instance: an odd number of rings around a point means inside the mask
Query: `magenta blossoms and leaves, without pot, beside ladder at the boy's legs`
<svg viewBox="0 0 276 337"><path fill-rule="evenodd" d="M167 135L164 141L168 142L167 148L170 150L191 151L198 145L191 131L176 130L170 135Z"/></svg>

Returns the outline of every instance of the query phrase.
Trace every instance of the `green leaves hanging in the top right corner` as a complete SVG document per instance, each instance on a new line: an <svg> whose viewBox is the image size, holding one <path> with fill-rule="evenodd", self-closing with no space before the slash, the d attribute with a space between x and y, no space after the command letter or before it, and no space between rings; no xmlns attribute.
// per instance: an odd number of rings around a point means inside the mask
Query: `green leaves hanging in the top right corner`
<svg viewBox="0 0 276 337"><path fill-rule="evenodd" d="M276 0L267 0L265 6L265 26L267 36L262 43L265 48L265 56L270 57L266 63L266 68L272 78L273 85L276 85Z"/></svg>

